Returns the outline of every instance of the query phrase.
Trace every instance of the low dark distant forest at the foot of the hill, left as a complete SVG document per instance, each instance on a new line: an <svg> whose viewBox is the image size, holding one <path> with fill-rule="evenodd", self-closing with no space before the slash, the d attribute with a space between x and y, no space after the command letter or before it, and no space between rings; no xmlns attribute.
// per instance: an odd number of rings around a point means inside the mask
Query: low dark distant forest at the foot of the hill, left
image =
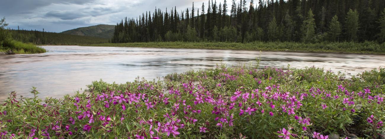
<svg viewBox="0 0 385 139"><path fill-rule="evenodd" d="M14 40L37 45L75 45L109 42L109 39L106 38L46 32L44 29L43 31L20 29L10 29L8 31Z"/></svg>

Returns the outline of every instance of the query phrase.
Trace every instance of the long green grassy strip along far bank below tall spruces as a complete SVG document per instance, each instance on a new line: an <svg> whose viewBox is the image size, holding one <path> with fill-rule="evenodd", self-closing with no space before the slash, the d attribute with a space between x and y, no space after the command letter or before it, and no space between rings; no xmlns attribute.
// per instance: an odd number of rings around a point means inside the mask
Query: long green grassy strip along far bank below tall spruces
<svg viewBox="0 0 385 139"><path fill-rule="evenodd" d="M102 43L82 46L113 46L113 47L151 47L151 48L194 48L194 49L232 49L232 50L267 50L267 51L307 51L333 53L366 53L385 55L385 44L374 41L355 42L148 42L148 43Z"/></svg>

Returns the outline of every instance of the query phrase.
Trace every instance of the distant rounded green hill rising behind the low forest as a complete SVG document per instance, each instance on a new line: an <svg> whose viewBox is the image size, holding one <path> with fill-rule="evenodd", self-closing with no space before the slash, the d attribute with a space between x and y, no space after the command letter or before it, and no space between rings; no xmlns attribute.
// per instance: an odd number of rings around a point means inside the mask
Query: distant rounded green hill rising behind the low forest
<svg viewBox="0 0 385 139"><path fill-rule="evenodd" d="M114 30L115 25L96 25L67 30L61 33L99 38L112 38L112 36L114 36Z"/></svg>

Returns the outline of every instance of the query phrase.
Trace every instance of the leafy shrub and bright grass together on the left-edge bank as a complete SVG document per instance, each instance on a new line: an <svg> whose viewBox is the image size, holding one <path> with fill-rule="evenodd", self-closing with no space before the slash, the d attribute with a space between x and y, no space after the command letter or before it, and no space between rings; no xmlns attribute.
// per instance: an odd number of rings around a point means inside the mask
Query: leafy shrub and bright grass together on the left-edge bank
<svg viewBox="0 0 385 139"><path fill-rule="evenodd" d="M0 20L0 52L4 54L32 54L32 53L45 53L44 48L33 45L32 43L22 43L20 41L13 40L9 30L5 29L8 23L5 22L5 18Z"/></svg>

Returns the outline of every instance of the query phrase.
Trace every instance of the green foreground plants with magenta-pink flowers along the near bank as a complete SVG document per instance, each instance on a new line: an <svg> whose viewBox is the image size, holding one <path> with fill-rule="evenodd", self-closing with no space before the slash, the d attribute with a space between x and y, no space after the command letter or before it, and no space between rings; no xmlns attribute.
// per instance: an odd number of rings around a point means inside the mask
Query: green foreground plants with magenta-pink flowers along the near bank
<svg viewBox="0 0 385 139"><path fill-rule="evenodd" d="M319 68L228 67L0 106L9 138L316 138L383 136L385 69L348 79Z"/></svg>

